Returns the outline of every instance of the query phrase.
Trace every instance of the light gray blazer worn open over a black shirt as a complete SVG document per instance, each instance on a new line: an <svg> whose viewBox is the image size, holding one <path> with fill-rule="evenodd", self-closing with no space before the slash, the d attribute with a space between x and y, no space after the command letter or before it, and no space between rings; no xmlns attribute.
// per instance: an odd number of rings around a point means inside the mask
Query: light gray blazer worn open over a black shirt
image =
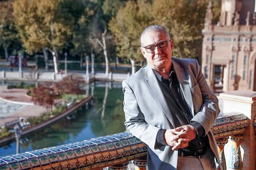
<svg viewBox="0 0 256 170"><path fill-rule="evenodd" d="M218 99L211 91L195 59L172 58L173 67L186 102L194 118L202 124L210 147L220 164L215 138L211 127L220 113ZM177 151L156 142L160 129L174 128L168 104L164 100L153 70L142 67L122 82L124 93L125 125L135 137L147 144L149 169L176 169Z"/></svg>

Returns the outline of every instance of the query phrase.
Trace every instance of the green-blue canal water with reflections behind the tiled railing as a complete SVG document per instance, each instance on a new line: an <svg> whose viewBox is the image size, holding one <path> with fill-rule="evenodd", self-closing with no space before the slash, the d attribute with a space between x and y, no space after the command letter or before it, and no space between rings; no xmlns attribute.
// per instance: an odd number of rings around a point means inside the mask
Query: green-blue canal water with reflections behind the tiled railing
<svg viewBox="0 0 256 170"><path fill-rule="evenodd" d="M94 96L92 103L84 105L71 116L60 119L58 123L40 132L22 137L20 153L126 130L121 83L95 82L86 86L87 94ZM0 147L0 156L12 155L15 152L15 142Z"/></svg>

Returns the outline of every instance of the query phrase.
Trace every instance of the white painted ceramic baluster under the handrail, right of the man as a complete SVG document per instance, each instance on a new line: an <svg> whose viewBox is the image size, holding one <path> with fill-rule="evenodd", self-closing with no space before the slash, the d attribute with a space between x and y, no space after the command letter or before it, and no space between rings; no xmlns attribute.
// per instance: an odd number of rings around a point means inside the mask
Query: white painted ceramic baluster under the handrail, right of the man
<svg viewBox="0 0 256 170"><path fill-rule="evenodd" d="M240 150L242 137L243 137L242 134L237 134L229 138L231 142L231 151L230 151L231 153L229 155L229 168L231 169L242 168L242 158L241 158L241 150Z"/></svg>

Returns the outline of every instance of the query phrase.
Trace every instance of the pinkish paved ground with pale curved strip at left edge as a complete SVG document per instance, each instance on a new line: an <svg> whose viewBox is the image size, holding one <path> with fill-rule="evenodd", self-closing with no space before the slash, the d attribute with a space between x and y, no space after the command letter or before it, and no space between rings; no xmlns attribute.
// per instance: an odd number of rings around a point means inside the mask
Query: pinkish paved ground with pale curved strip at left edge
<svg viewBox="0 0 256 170"><path fill-rule="evenodd" d="M33 104L27 91L27 89L0 89L0 127L12 124L20 117L27 119L46 111L44 107Z"/></svg>

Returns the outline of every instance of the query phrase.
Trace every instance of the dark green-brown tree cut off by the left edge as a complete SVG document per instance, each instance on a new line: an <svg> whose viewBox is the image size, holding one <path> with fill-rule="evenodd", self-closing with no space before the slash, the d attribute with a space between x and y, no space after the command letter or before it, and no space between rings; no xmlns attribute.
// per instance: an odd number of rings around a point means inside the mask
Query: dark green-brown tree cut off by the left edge
<svg viewBox="0 0 256 170"><path fill-rule="evenodd" d="M12 17L12 2L12 0L0 1L0 46L4 48L6 59L9 56L9 47L20 49L20 39Z"/></svg>

